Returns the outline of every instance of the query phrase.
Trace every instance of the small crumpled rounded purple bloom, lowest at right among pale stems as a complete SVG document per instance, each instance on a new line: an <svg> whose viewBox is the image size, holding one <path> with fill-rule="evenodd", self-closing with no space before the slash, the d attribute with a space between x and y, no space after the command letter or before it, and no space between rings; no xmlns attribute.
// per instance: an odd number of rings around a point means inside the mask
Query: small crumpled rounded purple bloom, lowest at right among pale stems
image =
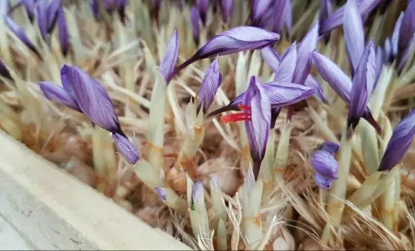
<svg viewBox="0 0 415 251"><path fill-rule="evenodd" d="M316 150L311 155L311 165L315 170L314 181L323 190L328 190L333 179L338 179L339 164L333 156L338 149L337 143L324 142L320 145L320 150Z"/></svg>

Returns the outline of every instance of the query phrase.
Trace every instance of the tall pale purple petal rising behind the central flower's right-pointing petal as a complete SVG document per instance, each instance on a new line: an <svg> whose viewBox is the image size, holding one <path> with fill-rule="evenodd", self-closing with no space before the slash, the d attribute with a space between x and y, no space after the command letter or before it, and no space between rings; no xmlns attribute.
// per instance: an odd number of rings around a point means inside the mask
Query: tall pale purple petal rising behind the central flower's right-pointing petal
<svg viewBox="0 0 415 251"><path fill-rule="evenodd" d="M293 82L304 84L306 81L308 72L311 69L311 63L313 62L312 52L315 50L318 41L318 22L315 23L313 28L302 39L297 48L297 63L294 70Z"/></svg>

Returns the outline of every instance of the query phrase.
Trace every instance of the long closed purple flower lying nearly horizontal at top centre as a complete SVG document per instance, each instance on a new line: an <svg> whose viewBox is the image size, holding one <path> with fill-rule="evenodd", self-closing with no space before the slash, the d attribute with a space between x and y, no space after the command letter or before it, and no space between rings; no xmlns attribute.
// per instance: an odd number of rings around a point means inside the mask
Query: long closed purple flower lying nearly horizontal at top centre
<svg viewBox="0 0 415 251"><path fill-rule="evenodd" d="M268 32L261 28L251 26L239 26L222 32L221 34L212 37L204 46L199 48L196 53L182 63L174 71L174 76L186 66L189 66L195 61L205 59L212 56L222 56L240 52L243 50L262 49L267 46L277 43L279 34Z"/></svg>

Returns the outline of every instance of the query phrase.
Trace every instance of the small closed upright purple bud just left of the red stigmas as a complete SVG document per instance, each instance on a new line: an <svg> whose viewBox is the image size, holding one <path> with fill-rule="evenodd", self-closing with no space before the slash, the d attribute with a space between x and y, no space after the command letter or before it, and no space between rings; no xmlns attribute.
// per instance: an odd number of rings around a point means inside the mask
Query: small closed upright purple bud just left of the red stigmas
<svg viewBox="0 0 415 251"><path fill-rule="evenodd" d="M217 59L213 61L208 70L203 76L201 87L199 89L199 105L197 107L197 112L202 108L203 113L208 112L210 105L213 102L216 91L222 83L222 75L219 72L219 63Z"/></svg>

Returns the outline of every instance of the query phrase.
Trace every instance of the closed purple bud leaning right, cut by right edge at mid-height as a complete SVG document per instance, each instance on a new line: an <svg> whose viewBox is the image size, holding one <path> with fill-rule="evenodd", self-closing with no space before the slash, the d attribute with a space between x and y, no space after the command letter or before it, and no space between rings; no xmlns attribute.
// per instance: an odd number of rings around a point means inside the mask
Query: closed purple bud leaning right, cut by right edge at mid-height
<svg viewBox="0 0 415 251"><path fill-rule="evenodd" d="M415 110L409 112L395 127L387 143L378 171L392 170L403 158L415 136Z"/></svg>

